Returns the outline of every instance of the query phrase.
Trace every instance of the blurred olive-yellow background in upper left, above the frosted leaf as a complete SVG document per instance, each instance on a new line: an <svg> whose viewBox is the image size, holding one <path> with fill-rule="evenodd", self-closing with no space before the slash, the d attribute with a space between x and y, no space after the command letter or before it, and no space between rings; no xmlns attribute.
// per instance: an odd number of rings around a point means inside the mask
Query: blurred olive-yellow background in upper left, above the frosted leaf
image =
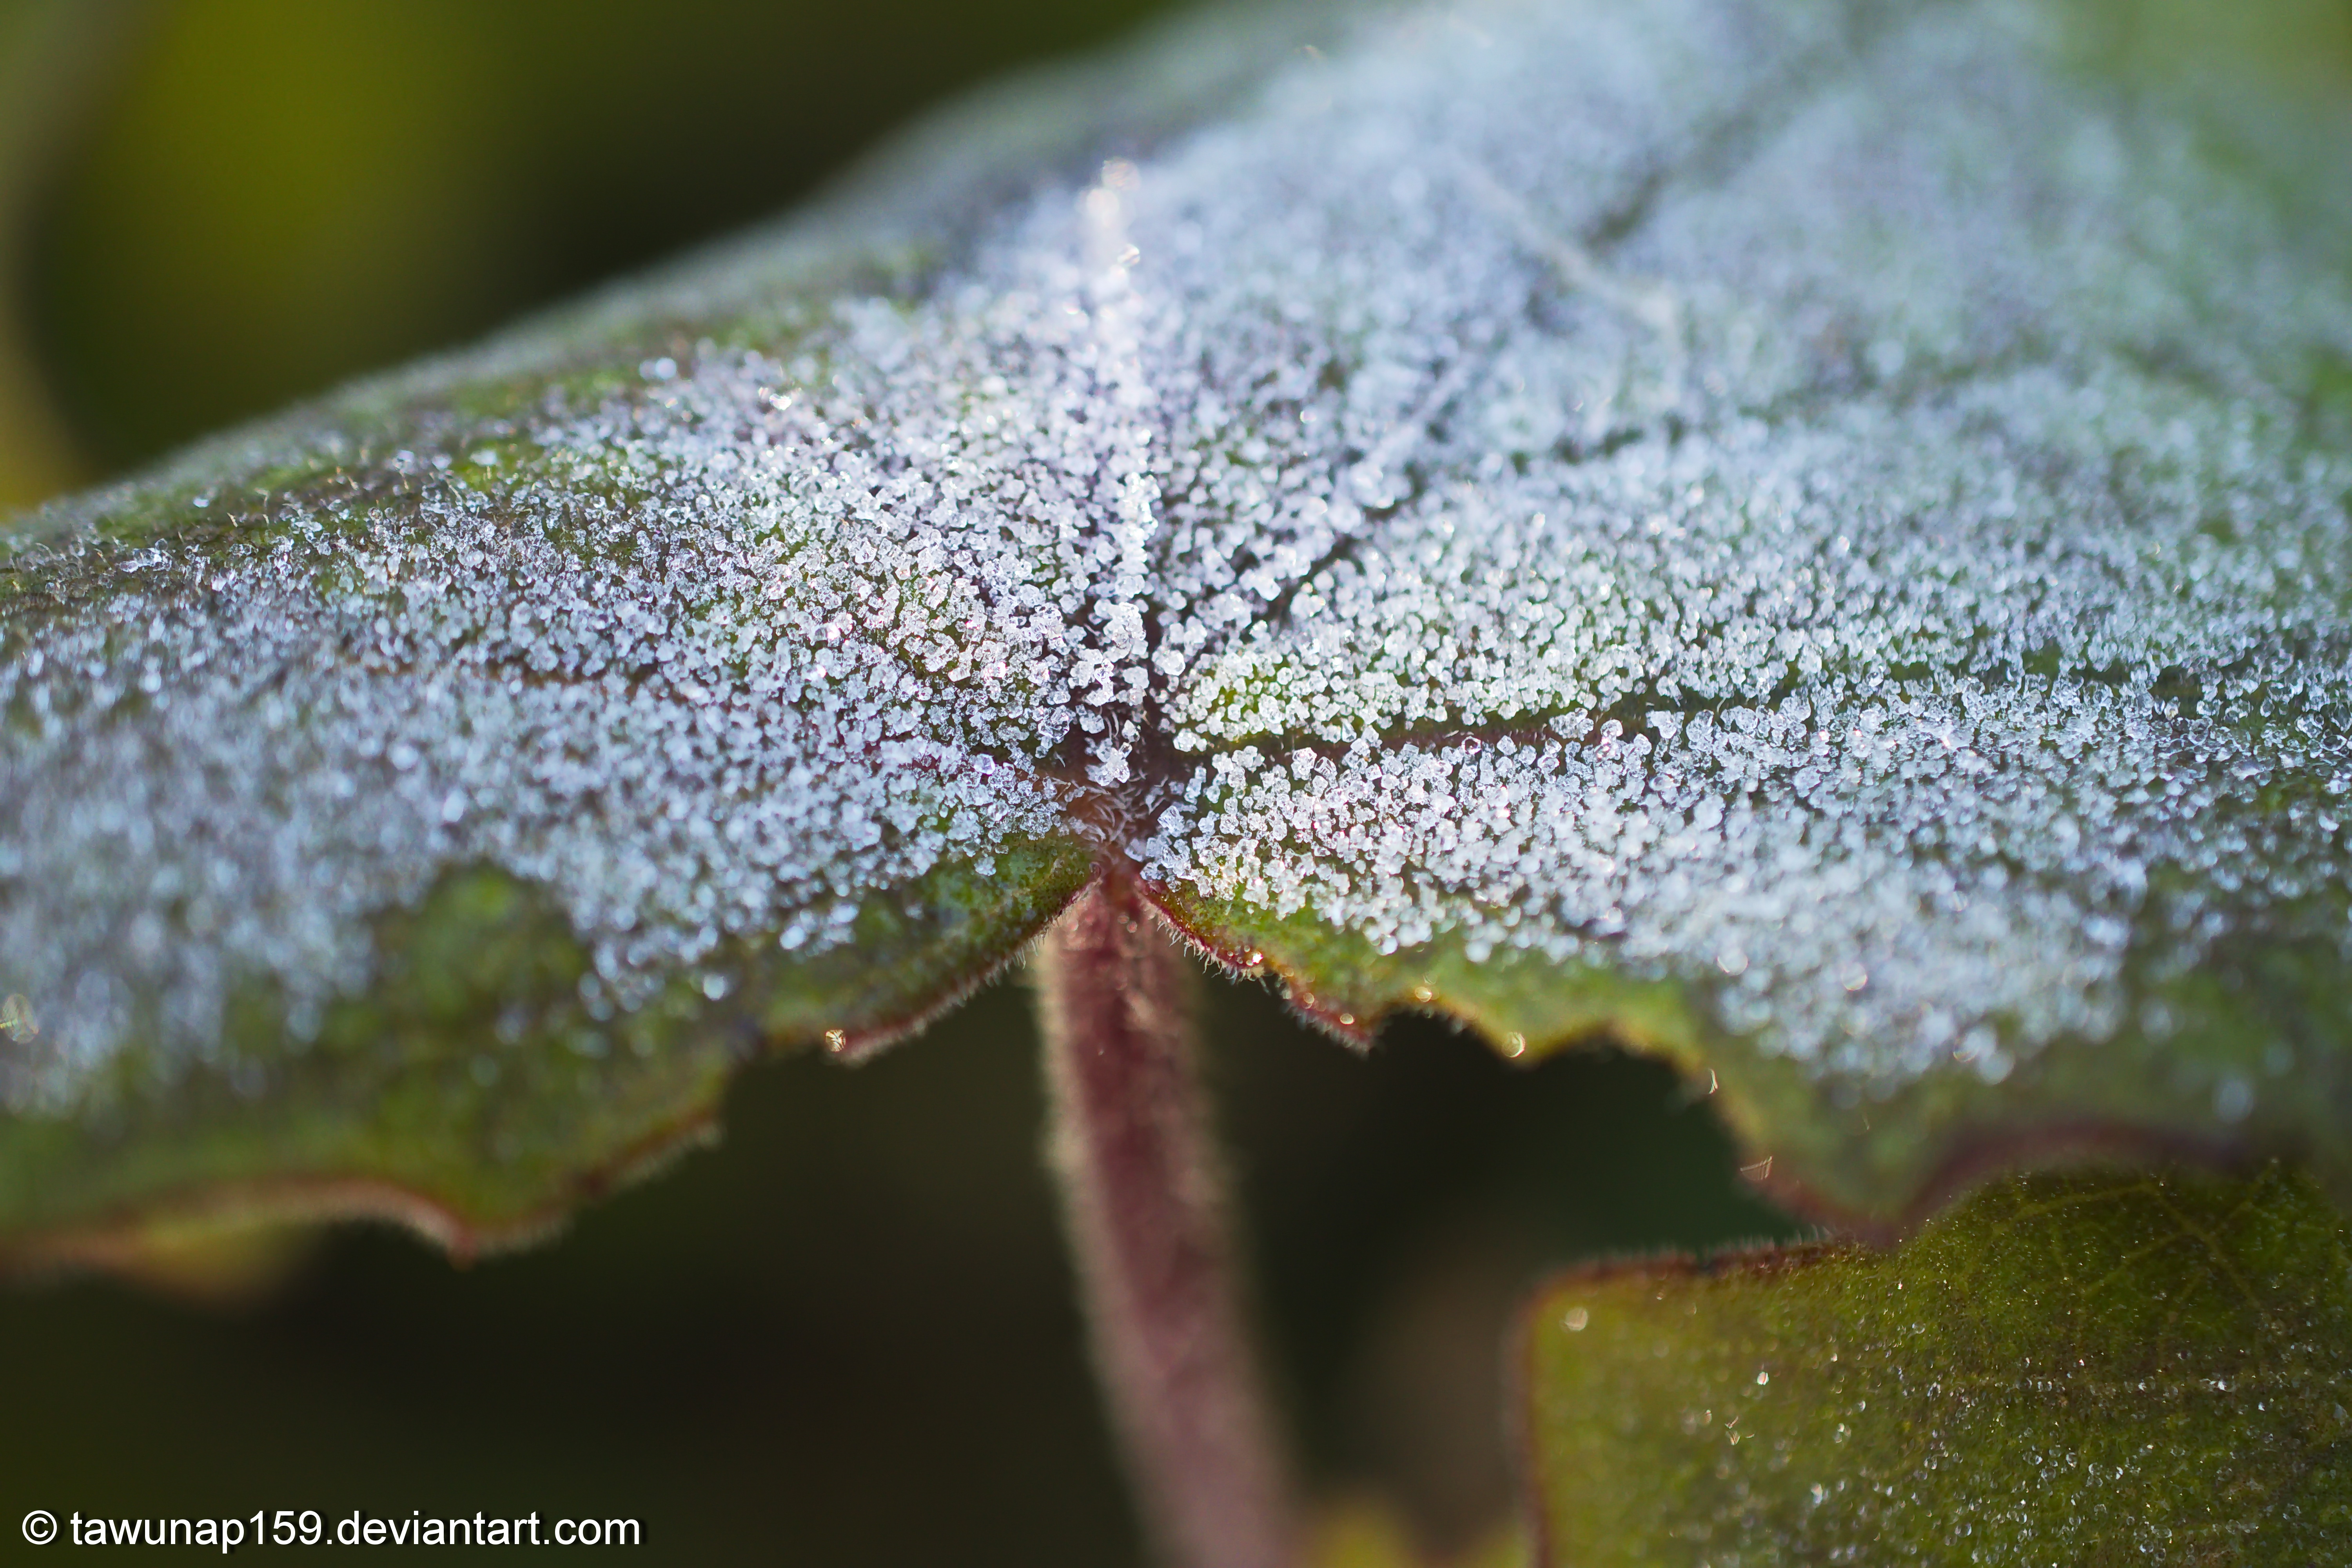
<svg viewBox="0 0 2352 1568"><path fill-rule="evenodd" d="M0 505L769 216L1164 5L0 0Z"/></svg>

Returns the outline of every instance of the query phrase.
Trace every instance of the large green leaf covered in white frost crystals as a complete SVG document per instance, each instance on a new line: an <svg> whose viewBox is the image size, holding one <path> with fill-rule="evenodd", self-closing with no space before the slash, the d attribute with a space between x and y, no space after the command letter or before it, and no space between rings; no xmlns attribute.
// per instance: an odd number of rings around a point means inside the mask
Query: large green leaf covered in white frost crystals
<svg viewBox="0 0 2352 1568"><path fill-rule="evenodd" d="M529 1229L1096 872L1860 1218L2352 1192L2352 125L2084 16L1209 16L14 524L0 1234Z"/></svg>

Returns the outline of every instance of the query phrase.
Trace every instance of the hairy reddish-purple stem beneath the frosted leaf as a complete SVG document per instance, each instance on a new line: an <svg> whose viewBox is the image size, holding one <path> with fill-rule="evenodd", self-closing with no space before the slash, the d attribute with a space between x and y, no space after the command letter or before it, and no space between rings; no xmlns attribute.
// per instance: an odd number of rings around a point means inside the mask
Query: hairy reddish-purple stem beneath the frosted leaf
<svg viewBox="0 0 2352 1568"><path fill-rule="evenodd" d="M1054 1168L1112 1422L1171 1568L1284 1568L1289 1474L1242 1324L1185 954L1105 877L1040 959Z"/></svg>

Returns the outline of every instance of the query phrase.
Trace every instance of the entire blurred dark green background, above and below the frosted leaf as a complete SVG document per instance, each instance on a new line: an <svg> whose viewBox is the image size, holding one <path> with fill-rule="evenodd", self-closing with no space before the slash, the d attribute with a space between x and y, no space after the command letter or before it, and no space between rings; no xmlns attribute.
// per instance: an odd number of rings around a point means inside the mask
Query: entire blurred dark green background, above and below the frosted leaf
<svg viewBox="0 0 2352 1568"><path fill-rule="evenodd" d="M722 235L1155 9L0 0L0 508ZM1207 1006L1315 1481L1432 1549L1503 1507L1534 1274L1785 1234L1663 1067ZM656 1561L1131 1563L1033 1058L1007 983L868 1067L760 1067L722 1147L468 1269L355 1227L238 1302L5 1288L0 1521L539 1509L637 1516Z"/></svg>

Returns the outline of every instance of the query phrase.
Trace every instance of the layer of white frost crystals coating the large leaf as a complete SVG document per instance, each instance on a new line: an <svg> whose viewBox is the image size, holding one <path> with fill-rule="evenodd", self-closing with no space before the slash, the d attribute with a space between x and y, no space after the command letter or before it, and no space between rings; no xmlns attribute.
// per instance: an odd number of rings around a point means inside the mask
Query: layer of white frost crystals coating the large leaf
<svg viewBox="0 0 2352 1568"><path fill-rule="evenodd" d="M920 287L21 545L0 1091L299 1032L456 865L628 1004L1054 832L1875 1079L2161 1032L2129 964L2347 884L2347 193L2053 49L1362 24Z"/></svg>

